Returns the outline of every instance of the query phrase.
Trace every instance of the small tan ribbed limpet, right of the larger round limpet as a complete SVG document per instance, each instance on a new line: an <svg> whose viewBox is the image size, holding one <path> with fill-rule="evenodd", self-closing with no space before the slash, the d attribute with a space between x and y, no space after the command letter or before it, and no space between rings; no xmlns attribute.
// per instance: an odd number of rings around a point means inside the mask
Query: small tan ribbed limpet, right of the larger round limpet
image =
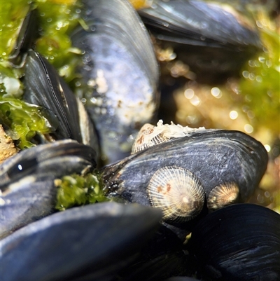
<svg viewBox="0 0 280 281"><path fill-rule="evenodd" d="M238 196L239 187L235 182L220 184L210 191L207 207L211 210L221 209L221 207L237 203Z"/></svg>

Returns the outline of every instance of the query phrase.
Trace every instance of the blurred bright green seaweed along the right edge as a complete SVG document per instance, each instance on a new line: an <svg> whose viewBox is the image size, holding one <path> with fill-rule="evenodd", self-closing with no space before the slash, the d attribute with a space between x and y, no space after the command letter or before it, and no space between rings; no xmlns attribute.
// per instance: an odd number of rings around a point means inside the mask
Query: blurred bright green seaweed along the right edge
<svg viewBox="0 0 280 281"><path fill-rule="evenodd" d="M239 89L247 110L255 116L252 120L255 128L263 126L278 134L279 118L275 114L280 112L280 36L265 14L259 17L257 24L264 50L244 67Z"/></svg>

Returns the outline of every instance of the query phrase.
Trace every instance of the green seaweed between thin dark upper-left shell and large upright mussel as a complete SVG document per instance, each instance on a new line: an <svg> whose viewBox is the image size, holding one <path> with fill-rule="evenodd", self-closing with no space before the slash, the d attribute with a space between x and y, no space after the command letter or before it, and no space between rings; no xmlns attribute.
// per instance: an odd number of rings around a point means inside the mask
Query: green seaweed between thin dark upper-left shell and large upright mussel
<svg viewBox="0 0 280 281"><path fill-rule="evenodd" d="M66 82L70 82L77 77L75 69L81 61L81 52L73 48L70 34L80 22L82 6L79 1L36 0L36 8L40 37L35 50L57 69Z"/></svg>

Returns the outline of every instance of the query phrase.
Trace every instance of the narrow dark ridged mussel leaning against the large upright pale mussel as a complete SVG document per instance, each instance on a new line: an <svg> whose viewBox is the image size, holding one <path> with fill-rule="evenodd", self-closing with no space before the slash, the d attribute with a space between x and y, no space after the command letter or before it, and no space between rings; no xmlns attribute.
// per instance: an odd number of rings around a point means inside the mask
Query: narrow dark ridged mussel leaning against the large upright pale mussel
<svg viewBox="0 0 280 281"><path fill-rule="evenodd" d="M58 119L55 139L75 139L98 151L97 135L83 104L54 67L39 53L29 50L25 64L24 100L52 111Z"/></svg>

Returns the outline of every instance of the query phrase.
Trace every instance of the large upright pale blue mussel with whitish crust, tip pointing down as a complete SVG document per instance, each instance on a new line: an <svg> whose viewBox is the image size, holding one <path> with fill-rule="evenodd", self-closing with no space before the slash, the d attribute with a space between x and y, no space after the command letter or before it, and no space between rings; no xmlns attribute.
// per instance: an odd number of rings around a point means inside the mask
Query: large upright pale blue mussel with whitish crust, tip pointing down
<svg viewBox="0 0 280 281"><path fill-rule="evenodd" d="M133 135L158 107L158 63L151 39L127 0L84 1L88 29L76 29L73 45L84 51L78 69L87 85L87 110L99 132L103 158L130 154Z"/></svg>

